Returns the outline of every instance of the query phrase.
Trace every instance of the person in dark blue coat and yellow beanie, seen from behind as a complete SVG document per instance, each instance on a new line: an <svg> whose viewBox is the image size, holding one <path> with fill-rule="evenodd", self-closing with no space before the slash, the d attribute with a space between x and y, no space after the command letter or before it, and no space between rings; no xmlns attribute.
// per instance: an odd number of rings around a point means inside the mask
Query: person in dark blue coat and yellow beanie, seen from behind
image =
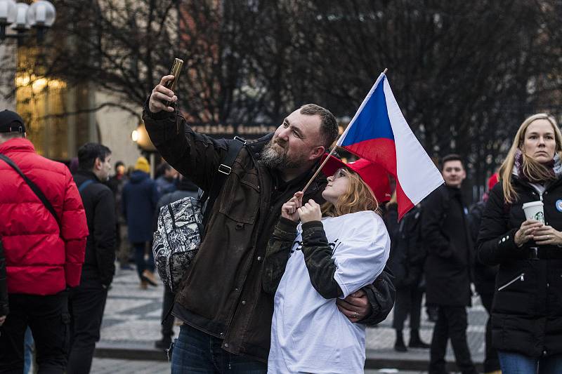
<svg viewBox="0 0 562 374"><path fill-rule="evenodd" d="M154 180L148 174L150 165L145 157L139 157L129 182L123 187L122 209L127 222L129 241L135 251L136 271L141 279L141 288L157 286L154 276L154 256L148 253L147 243L152 241L152 219L158 203L159 194Z"/></svg>

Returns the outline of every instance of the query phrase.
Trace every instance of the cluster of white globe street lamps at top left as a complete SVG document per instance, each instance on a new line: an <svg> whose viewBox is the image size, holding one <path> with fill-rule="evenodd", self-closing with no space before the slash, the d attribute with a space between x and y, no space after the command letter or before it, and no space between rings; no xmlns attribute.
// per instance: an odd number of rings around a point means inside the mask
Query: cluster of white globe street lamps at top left
<svg viewBox="0 0 562 374"><path fill-rule="evenodd" d="M38 0L31 5L14 0L0 0L0 42L6 38L21 39L32 27L37 30L37 41L41 43L46 30L53 26L56 18L55 6L50 1ZM6 27L18 34L6 34Z"/></svg>

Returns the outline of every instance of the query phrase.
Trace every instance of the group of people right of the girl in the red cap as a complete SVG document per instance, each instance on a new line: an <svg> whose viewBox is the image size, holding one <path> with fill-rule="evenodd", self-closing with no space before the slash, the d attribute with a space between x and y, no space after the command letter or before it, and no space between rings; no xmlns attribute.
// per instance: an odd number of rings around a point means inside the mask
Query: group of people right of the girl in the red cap
<svg viewBox="0 0 562 374"><path fill-rule="evenodd" d="M396 223L396 203L387 204L398 352L407 350L402 330L409 315L410 347L430 349L429 373L447 373L449 340L457 368L477 373L466 307L478 295L489 315L485 373L562 372L561 156L556 120L535 114L519 127L481 201L470 207L464 201L464 163L451 154L440 165L445 185L402 222ZM537 201L544 211L529 217L524 204ZM423 293L435 322L431 344L419 339Z"/></svg>

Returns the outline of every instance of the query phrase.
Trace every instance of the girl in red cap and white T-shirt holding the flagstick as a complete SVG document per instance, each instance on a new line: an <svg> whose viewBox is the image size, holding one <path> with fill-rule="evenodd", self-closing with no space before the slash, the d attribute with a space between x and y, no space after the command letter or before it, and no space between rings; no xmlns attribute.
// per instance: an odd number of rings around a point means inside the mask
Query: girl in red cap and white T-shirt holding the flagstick
<svg viewBox="0 0 562 374"><path fill-rule="evenodd" d="M263 289L275 293L268 373L362 373L365 326L341 314L336 299L372 283L388 259L375 169L341 163L322 207L302 204L301 192L282 206L263 272Z"/></svg>

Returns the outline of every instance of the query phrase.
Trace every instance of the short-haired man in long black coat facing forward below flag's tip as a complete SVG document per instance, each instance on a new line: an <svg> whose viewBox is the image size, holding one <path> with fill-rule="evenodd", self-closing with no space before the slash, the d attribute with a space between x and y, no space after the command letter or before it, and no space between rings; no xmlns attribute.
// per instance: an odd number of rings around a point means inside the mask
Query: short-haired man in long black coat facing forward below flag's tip
<svg viewBox="0 0 562 374"><path fill-rule="evenodd" d="M443 374L447 340L463 374L477 373L466 343L466 307L471 305L472 243L460 187L466 172L459 156L443 157L442 186L424 202L421 232L428 251L426 302L438 307L431 339L430 374Z"/></svg>

